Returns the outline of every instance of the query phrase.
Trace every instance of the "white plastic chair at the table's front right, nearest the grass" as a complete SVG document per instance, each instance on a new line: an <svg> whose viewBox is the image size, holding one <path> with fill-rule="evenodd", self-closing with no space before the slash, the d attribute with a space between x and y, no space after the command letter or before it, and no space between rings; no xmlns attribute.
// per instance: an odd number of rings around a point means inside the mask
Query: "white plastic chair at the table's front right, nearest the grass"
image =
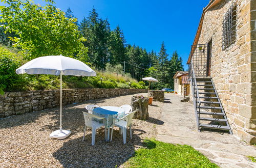
<svg viewBox="0 0 256 168"><path fill-rule="evenodd" d="M112 141L114 126L117 126L121 129L122 134L123 134L123 144L126 143L126 130L127 130L128 127L130 127L130 137L132 139L132 119L133 119L133 116L136 113L136 111L133 111L132 113L129 113L126 116L124 116L123 118L120 118L120 119L113 117L113 125L112 125L112 130L111 130L111 139L110 139L110 141ZM116 122L116 120L118 120L118 121Z"/></svg>

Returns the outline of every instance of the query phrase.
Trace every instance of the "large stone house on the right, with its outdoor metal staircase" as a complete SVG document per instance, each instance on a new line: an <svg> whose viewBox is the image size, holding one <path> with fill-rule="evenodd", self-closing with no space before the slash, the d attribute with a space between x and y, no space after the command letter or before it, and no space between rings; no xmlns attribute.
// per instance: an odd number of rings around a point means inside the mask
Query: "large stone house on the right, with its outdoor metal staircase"
<svg viewBox="0 0 256 168"><path fill-rule="evenodd" d="M198 129L210 128L201 124L208 114L208 121L219 123L212 127L228 130L230 125L230 133L256 144L256 0L211 0L187 64ZM201 114L204 109L211 115Z"/></svg>

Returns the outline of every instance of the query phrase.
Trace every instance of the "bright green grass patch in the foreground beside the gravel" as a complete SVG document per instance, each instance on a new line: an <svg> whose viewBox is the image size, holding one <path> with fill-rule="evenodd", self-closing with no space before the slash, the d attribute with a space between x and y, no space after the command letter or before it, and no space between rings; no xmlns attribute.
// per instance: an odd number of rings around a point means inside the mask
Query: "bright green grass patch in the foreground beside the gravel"
<svg viewBox="0 0 256 168"><path fill-rule="evenodd" d="M174 145L146 139L145 148L135 152L125 164L129 167L219 167L188 145Z"/></svg>

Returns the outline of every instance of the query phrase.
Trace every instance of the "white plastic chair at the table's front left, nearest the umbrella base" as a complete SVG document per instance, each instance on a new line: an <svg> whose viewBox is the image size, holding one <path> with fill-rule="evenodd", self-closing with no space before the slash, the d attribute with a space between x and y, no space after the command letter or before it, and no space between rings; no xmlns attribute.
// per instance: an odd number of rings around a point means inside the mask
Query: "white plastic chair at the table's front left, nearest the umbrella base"
<svg viewBox="0 0 256 168"><path fill-rule="evenodd" d="M83 117L84 117L84 132L83 132L83 138L82 141L84 141L84 136L86 135L86 129L87 127L92 129L92 145L95 144L95 135L96 135L96 130L99 129L100 127L104 126L104 123L100 123L98 121L94 121L93 119L99 119L103 120L103 117L99 117L90 113L86 113L83 111ZM105 121L105 120L103 120ZM106 127L105 127L105 139L106 139Z"/></svg>

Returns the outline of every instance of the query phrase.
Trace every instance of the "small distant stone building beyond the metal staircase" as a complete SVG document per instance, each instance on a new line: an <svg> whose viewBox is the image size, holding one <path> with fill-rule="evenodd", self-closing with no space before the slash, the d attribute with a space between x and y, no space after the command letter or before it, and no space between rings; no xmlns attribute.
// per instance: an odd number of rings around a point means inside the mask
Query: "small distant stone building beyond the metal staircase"
<svg viewBox="0 0 256 168"><path fill-rule="evenodd" d="M189 94L188 71L177 71L173 78L174 92L184 98Z"/></svg>

